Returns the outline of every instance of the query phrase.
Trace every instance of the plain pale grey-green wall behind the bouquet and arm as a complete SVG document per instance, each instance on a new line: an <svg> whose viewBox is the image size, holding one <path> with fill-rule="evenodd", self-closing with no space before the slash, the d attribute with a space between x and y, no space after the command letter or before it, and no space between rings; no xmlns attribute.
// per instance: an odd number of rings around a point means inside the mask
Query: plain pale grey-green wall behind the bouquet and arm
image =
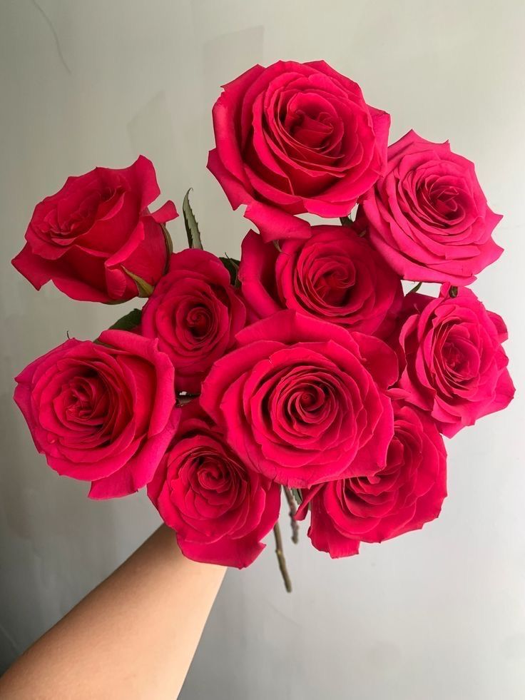
<svg viewBox="0 0 525 700"><path fill-rule="evenodd" d="M448 442L449 498L422 532L332 562L304 527L294 547L283 519L295 592L272 542L228 572L181 697L525 696L524 20L521 0L0 0L3 666L158 525L145 495L89 502L49 470L11 400L12 377L67 331L91 338L124 313L15 273L35 203L144 153L163 198L180 208L193 186L208 249L235 255L247 223L205 170L219 86L258 62L322 58L392 114L391 141L414 128L475 161L506 253L474 289L509 325L518 393ZM183 247L181 220L169 228Z"/></svg>

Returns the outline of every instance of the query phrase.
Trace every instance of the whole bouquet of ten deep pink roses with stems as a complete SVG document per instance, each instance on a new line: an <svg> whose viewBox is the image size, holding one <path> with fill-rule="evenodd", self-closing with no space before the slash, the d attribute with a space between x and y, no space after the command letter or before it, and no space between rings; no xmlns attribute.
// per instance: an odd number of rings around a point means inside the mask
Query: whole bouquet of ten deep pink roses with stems
<svg viewBox="0 0 525 700"><path fill-rule="evenodd" d="M438 516L442 436L514 395L504 321L467 286L501 255L501 216L448 142L409 131L388 147L389 121L323 61L228 83L208 168L258 229L240 260L203 250L188 195L189 248L173 252L177 212L150 210L143 156L68 178L36 206L13 261L36 289L147 298L16 377L53 470L96 499L146 487L199 562L246 567L273 528L288 589L282 492L292 539L309 514L332 557ZM423 282L442 286L427 296Z"/></svg>

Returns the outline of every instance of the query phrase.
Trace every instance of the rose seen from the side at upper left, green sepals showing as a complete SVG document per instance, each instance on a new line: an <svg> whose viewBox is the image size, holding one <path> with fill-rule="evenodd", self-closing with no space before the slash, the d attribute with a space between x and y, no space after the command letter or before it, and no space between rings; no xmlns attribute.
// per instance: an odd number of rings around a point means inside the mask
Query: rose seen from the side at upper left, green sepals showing
<svg viewBox="0 0 525 700"><path fill-rule="evenodd" d="M168 201L151 213L148 205L159 194L153 164L144 156L123 170L95 168L68 178L36 205L13 265L36 289L52 280L72 299L114 303L136 297L133 275L155 285L168 259L161 224L177 212Z"/></svg>

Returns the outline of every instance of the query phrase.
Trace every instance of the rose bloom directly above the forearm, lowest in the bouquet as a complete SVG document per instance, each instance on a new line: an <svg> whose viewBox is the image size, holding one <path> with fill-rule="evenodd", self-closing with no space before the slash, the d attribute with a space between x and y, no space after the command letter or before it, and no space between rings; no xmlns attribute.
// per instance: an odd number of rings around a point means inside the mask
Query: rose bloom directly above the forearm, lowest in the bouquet
<svg viewBox="0 0 525 700"><path fill-rule="evenodd" d="M280 487L246 467L196 400L183 407L148 496L185 557L238 569L262 552L280 509Z"/></svg>

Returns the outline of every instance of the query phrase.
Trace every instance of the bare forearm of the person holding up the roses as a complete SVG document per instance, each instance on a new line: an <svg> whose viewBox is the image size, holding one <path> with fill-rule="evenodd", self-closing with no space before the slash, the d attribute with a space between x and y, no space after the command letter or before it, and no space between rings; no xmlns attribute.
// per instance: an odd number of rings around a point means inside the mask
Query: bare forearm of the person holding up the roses
<svg viewBox="0 0 525 700"><path fill-rule="evenodd" d="M178 697L226 569L163 525L0 678L4 700Z"/></svg>

